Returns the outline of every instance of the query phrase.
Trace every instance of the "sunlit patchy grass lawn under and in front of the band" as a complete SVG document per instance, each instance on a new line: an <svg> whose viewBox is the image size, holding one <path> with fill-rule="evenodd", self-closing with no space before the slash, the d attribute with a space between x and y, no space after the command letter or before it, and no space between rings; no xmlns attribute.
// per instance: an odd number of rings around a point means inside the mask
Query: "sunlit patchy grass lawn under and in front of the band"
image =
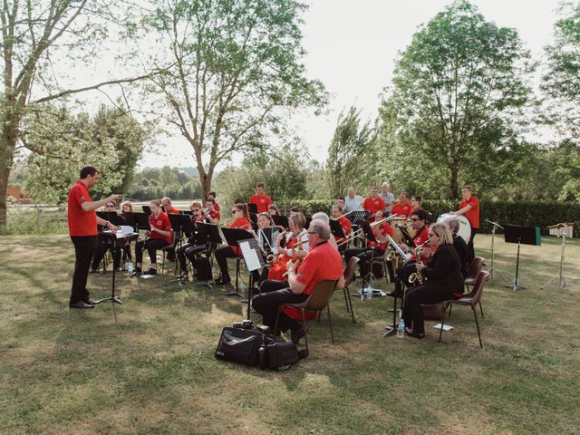
<svg viewBox="0 0 580 435"><path fill-rule="evenodd" d="M478 255L490 240L478 235ZM382 339L391 298L354 298L353 324L337 294L336 345L323 315L309 358L262 372L214 358L221 328L244 318L223 287L119 274L125 305L69 311L70 239L0 237L0 433L579 433L580 243L566 248L573 294L539 288L558 271L558 242L522 246L527 289L488 283L484 349L469 308L453 310L443 343L432 322L422 341ZM517 247L496 247L513 278ZM110 280L90 275L92 296Z"/></svg>

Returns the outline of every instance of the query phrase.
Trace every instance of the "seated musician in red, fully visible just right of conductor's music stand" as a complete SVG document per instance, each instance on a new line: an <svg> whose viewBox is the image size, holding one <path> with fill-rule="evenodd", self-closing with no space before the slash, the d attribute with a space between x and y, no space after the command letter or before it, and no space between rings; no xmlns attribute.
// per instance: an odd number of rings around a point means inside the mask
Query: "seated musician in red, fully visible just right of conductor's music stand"
<svg viewBox="0 0 580 435"><path fill-rule="evenodd" d="M133 275L141 275L143 251L147 249L151 260L151 266L145 275L157 275L157 251L169 247L173 242L173 230L167 213L161 210L161 202L157 199L150 202L151 214L149 216L150 230L147 231L147 239L139 240L135 244L135 272Z"/></svg>

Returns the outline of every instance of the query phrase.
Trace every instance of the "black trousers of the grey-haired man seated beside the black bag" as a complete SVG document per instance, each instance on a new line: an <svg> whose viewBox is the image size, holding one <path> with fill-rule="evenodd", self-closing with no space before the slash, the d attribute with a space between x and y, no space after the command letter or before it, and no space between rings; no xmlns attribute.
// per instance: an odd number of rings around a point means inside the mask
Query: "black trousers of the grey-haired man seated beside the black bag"
<svg viewBox="0 0 580 435"><path fill-rule="evenodd" d="M252 306L257 313L262 314L262 323L275 328L275 316L278 313L278 306L284 304L301 304L308 295L295 295L288 288L285 281L275 281L266 279L260 286L261 295L252 298ZM280 313L278 318L278 329L282 332L298 331L302 324L295 319L288 317L285 313Z"/></svg>

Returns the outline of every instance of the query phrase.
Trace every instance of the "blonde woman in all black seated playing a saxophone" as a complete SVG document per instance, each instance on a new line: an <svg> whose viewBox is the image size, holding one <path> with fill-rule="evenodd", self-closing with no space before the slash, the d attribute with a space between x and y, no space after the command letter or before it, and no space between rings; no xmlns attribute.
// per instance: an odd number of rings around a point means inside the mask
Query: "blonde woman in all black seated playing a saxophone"
<svg viewBox="0 0 580 435"><path fill-rule="evenodd" d="M416 338L425 336L421 304L437 304L463 294L463 275L459 256L453 248L449 228L443 223L433 224L429 231L431 250L427 266L417 263L417 273L424 276L424 284L407 290L402 318L407 334Z"/></svg>

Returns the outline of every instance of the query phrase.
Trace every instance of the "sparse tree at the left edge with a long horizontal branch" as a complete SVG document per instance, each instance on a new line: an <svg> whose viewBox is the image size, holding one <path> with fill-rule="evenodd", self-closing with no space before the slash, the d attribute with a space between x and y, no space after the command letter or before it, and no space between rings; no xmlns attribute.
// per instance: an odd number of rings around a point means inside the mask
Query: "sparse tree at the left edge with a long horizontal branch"
<svg viewBox="0 0 580 435"><path fill-rule="evenodd" d="M54 65L61 56L83 60L101 50L106 21L121 2L112 0L5 1L0 6L0 227L6 223L6 188L20 127L31 104L98 89L107 84L135 82L141 77L109 80L77 89L60 89ZM58 54L57 54L58 53ZM34 95L34 97L33 97Z"/></svg>

